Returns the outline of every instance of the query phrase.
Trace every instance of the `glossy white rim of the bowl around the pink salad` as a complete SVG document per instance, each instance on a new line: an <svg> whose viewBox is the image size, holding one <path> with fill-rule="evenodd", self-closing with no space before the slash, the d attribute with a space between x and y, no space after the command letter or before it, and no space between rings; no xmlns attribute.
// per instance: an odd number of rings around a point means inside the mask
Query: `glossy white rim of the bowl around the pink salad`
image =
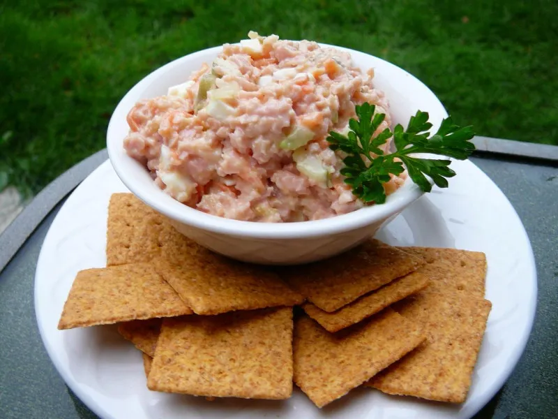
<svg viewBox="0 0 558 419"><path fill-rule="evenodd" d="M395 64L391 64L389 61L375 57L371 54L352 50L346 47L324 43L319 43L319 45L323 47L334 47L339 50L349 52L350 54L364 54L377 61L382 61L384 66L393 69L393 71L402 71L405 73L406 77L411 78L414 83L418 84L418 86L430 96L429 101L432 101L432 103L439 106L444 117L448 116L444 105L442 105L432 90L421 82L421 80L414 77L414 75L398 66L395 66ZM130 173L123 168L124 165L120 164L123 159L135 160L126 153L121 152L121 141L123 138L118 138L116 134L113 134L116 119L118 119L121 115L128 114L128 111L133 107L133 105L140 100L142 91L144 91L144 89L153 80L160 78L167 73L167 71L176 66L180 66L189 60L196 59L197 57L205 54L218 54L222 48L223 45L206 48L204 50L179 57L164 66L160 66L155 71L149 73L142 78L142 80L137 82L134 87L132 87L126 95L123 96L121 101L119 101L119 104L116 106L112 114L107 128L107 150L109 159L116 175L118 175L123 184L125 184L126 187L128 187L128 189L130 189L130 191L146 205L149 205L154 210L168 216L174 221L212 233L231 235L235 237L251 237L255 239L294 239L327 236L370 226L372 223L384 221L393 214L398 214L405 209L405 207L423 195L423 191L421 191L421 189L419 189L418 186L412 182L410 177L407 177L405 184L388 196L386 203L382 205L370 205L354 212L340 214L327 219L291 223L260 223L256 221L226 219L213 214L206 214L192 207L188 207L183 203L179 203L179 201L174 200L174 198L171 198L163 192L162 189L159 190L160 193L155 194L146 191L142 186L144 182L139 179L135 179L135 177L131 176Z"/></svg>

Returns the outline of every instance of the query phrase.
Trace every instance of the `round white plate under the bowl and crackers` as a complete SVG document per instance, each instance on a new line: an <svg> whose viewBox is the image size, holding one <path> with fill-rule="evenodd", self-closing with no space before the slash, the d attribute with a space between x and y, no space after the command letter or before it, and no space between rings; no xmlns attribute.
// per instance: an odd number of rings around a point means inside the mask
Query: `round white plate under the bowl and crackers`
<svg viewBox="0 0 558 419"><path fill-rule="evenodd" d="M107 161L68 198L40 252L35 310L40 335L66 383L103 419L174 418L470 418L506 381L533 323L536 271L529 239L502 191L469 161L452 163L458 176L381 230L398 245L483 251L488 258L486 297L492 312L465 404L447 406L391 397L359 388L317 409L296 389L282 402L169 395L146 388L142 356L114 326L56 329L77 271L105 266L107 205L126 191Z"/></svg>

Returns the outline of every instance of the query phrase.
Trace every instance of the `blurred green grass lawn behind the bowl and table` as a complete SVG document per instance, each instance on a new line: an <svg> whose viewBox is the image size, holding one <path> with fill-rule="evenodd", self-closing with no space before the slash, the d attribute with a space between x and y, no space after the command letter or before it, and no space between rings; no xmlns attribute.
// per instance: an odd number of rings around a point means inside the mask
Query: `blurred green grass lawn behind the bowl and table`
<svg viewBox="0 0 558 419"><path fill-rule="evenodd" d="M4 0L0 190L36 193L105 147L112 110L144 75L250 29L369 52L479 135L558 145L555 0Z"/></svg>

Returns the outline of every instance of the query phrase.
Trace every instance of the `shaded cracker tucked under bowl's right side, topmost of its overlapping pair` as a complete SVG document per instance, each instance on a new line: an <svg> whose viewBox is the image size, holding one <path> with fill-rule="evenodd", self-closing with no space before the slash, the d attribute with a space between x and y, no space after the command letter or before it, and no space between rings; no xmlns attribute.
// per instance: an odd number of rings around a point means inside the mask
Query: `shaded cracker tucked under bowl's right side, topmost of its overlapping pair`
<svg viewBox="0 0 558 419"><path fill-rule="evenodd" d="M335 311L423 265L421 258L377 240L339 256L288 268L284 279L324 311Z"/></svg>

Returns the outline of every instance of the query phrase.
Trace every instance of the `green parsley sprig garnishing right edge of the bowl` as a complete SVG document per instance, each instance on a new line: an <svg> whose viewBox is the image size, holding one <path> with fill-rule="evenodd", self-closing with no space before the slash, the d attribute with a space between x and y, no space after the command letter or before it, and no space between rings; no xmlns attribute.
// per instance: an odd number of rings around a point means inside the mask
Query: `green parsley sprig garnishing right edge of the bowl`
<svg viewBox="0 0 558 419"><path fill-rule="evenodd" d="M327 140L331 149L340 149L347 154L343 159L345 167L341 169L341 175L345 176L345 183L352 186L354 195L366 203L386 202L382 184L389 182L390 174L400 175L405 170L403 165L413 182L425 192L432 189L426 176L437 186L448 187L446 178L455 176L455 172L448 167L451 161L421 159L413 154L438 154L465 160L475 149L469 141L474 137L472 127L457 126L451 118L444 119L438 131L429 138L432 124L428 122L428 112L419 110L409 120L407 130L398 124L393 133L386 128L373 137L386 115L375 114L375 105L363 103L356 106L356 116L358 119L349 121L347 135L331 131ZM396 151L384 154L380 147L392 136Z"/></svg>

